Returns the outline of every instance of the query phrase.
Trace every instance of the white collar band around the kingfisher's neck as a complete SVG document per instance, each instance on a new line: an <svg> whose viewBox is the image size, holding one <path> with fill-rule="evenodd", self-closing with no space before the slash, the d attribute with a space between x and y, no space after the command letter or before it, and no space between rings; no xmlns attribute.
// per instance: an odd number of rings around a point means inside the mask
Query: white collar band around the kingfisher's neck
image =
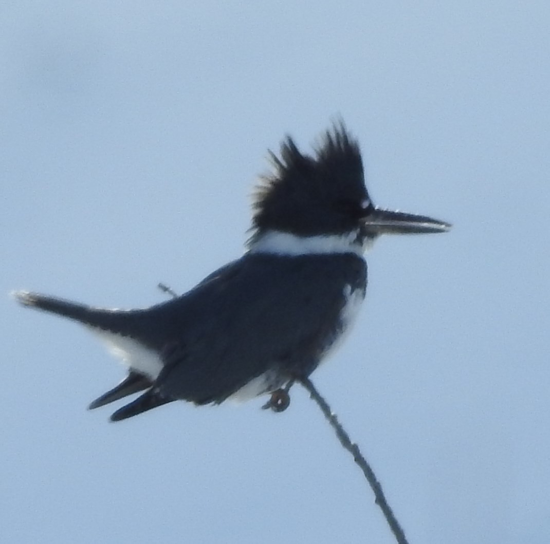
<svg viewBox="0 0 550 544"><path fill-rule="evenodd" d="M327 236L296 236L289 232L270 230L250 246L250 253L274 253L299 256L329 253L355 253L362 257L370 247L368 238L363 245L357 241L359 232Z"/></svg>

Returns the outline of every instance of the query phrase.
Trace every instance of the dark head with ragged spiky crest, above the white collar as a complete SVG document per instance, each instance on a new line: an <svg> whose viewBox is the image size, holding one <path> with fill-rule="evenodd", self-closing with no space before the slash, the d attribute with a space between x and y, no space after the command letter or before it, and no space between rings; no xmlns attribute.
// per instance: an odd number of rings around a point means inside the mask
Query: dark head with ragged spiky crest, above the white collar
<svg viewBox="0 0 550 544"><path fill-rule="evenodd" d="M303 154L287 137L279 156L270 152L273 171L262 176L254 195L252 241L267 230L312 235L353 229L364 214L361 152L343 123L334 124L314 148ZM324 222L324 225L323 225Z"/></svg>

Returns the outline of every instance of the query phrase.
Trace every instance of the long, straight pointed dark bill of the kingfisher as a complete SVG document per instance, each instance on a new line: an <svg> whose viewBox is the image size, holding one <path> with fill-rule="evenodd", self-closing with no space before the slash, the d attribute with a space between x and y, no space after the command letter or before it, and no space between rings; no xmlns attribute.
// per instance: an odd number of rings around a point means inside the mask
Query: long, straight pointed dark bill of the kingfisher
<svg viewBox="0 0 550 544"><path fill-rule="evenodd" d="M429 234L447 232L452 225L412 213L391 212L375 208L365 218L365 226L374 235L379 234Z"/></svg>

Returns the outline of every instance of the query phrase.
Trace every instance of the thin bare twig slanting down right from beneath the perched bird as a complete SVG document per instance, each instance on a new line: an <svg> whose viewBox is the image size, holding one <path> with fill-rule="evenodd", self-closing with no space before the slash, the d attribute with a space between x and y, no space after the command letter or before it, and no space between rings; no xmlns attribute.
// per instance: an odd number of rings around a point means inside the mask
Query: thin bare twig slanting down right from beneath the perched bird
<svg viewBox="0 0 550 544"><path fill-rule="evenodd" d="M401 529L399 522L393 514L393 510L390 508L388 502L386 501L386 497L384 496L384 492L382 491L382 486L380 485L380 482L376 479L376 475L371 469L370 465L362 456L359 446L351 442L348 433L339 423L338 418L332 412L331 407L328 406L327 401L320 395L315 386L312 384L311 380L309 378L303 378L300 380L300 382L306 388L307 392L309 392L310 397L317 403L318 407L321 408L321 412L323 412L324 417L336 432L336 436L338 437L340 444L342 444L342 446L347 449L351 453L351 455L353 455L353 460L355 461L355 463L357 463L357 465L359 465L359 468L363 471L363 474L368 481L368 485L371 486L371 489L375 494L375 502L382 510L384 518L386 518L389 528L392 530L398 544L408 544L403 529Z"/></svg>

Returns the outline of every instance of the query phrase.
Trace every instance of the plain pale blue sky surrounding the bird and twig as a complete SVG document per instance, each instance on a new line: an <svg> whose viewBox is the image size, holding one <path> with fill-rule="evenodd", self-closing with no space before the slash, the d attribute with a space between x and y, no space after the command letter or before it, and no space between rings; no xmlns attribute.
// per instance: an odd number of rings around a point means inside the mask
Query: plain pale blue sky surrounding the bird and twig
<svg viewBox="0 0 550 544"><path fill-rule="evenodd" d="M221 5L222 4L222 5ZM335 115L379 205L315 375L411 543L550 538L547 2L4 2L0 527L20 542L393 542L298 387L281 415L87 402L123 369L13 288L118 307L239 256L266 149Z"/></svg>

